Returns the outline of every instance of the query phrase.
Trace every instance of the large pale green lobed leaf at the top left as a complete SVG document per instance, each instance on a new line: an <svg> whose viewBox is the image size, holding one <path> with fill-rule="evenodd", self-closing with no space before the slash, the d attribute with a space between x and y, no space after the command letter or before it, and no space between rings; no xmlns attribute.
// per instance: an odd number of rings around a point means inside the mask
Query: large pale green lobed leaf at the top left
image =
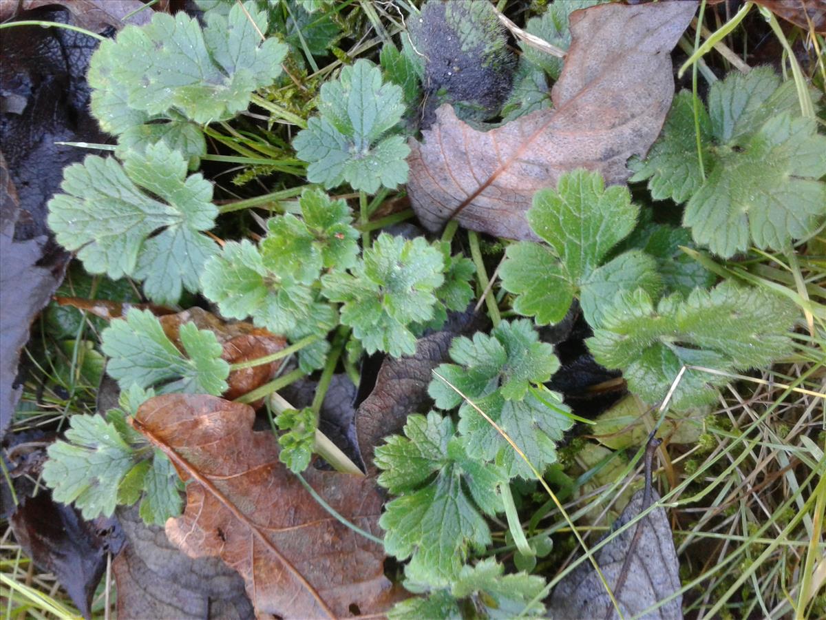
<svg viewBox="0 0 826 620"><path fill-rule="evenodd" d="M266 15L254 2L235 3L227 16L209 12L203 30L185 12L155 13L146 26L126 26L115 41L102 42L91 85L123 93L128 107L150 117L178 112L197 123L225 121L281 74L287 45L262 43L265 31ZM106 131L127 128L122 117L99 118Z"/></svg>

